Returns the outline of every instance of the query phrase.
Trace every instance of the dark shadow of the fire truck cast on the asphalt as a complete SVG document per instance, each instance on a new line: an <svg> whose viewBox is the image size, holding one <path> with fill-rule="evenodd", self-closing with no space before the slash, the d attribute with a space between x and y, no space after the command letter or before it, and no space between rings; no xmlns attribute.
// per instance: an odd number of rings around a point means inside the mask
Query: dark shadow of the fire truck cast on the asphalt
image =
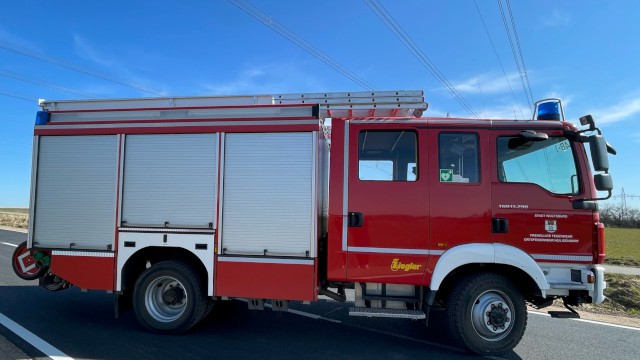
<svg viewBox="0 0 640 360"><path fill-rule="evenodd" d="M0 304L2 314L72 358L476 357L452 346L446 330L439 325L439 314L435 314L430 326L425 327L409 320L352 318L347 314L348 305L332 301L312 305L292 303L290 306L305 314L320 315L322 319L271 309L250 311L244 302L221 301L209 317L178 336L145 331L138 325L133 311L115 319L113 295L104 292L81 293L78 289L70 289L51 293L33 286L3 286L0 287ZM7 329L0 328L0 334L7 334ZM15 339L15 336L8 338ZM19 340L14 342L24 346ZM34 350L25 352L31 355ZM515 353L505 358L519 359Z"/></svg>

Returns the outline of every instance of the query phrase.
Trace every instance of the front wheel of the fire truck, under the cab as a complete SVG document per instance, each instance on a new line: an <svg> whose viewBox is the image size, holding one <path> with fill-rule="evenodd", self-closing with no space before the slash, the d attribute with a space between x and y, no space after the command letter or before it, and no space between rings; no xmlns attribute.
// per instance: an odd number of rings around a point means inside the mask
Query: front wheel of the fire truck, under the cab
<svg viewBox="0 0 640 360"><path fill-rule="evenodd" d="M513 350L527 327L523 296L503 276L493 273L462 278L451 290L447 319L453 335L480 355Z"/></svg>

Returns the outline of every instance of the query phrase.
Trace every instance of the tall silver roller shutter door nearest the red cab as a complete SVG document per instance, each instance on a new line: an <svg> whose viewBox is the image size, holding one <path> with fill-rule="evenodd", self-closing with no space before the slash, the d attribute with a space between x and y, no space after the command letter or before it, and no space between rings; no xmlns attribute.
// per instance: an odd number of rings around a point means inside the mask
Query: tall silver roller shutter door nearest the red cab
<svg viewBox="0 0 640 360"><path fill-rule="evenodd" d="M313 237L311 133L227 134L222 247L305 256Z"/></svg>

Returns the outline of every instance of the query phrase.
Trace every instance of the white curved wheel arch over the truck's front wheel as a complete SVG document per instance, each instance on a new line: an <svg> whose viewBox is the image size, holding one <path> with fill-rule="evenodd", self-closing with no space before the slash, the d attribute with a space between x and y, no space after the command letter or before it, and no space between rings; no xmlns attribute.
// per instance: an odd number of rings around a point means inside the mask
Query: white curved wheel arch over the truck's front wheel
<svg viewBox="0 0 640 360"><path fill-rule="evenodd" d="M527 298L545 297L549 283L533 258L514 246L504 244L465 244L447 250L433 270L430 289L433 303L438 294L447 293L457 279L486 271L507 277Z"/></svg>

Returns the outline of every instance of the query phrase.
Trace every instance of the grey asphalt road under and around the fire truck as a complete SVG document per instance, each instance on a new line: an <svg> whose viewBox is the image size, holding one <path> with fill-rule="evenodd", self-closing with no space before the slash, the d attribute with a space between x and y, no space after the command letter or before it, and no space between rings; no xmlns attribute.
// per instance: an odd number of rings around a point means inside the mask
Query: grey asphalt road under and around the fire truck
<svg viewBox="0 0 640 360"><path fill-rule="evenodd" d="M188 334L144 331L132 312L113 316L113 296L78 289L52 293L17 278L10 256L26 234L0 230L0 313L74 359L464 359L440 325L354 318L348 304L291 304L294 312L249 311L220 302ZM25 286L26 285L26 286ZM30 286L31 285L31 286ZM295 310L299 311L296 312ZM43 354L0 325L31 357ZM506 359L637 359L640 331L530 314L520 345Z"/></svg>

